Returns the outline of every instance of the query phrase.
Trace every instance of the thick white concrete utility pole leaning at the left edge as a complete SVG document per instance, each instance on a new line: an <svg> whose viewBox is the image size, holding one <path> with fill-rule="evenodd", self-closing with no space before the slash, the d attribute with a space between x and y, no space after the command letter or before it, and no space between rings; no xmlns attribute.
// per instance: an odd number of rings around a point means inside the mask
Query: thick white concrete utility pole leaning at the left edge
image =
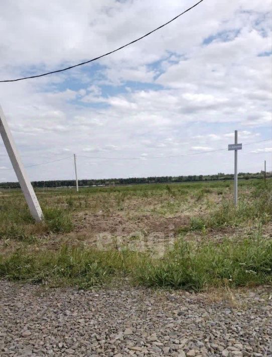
<svg viewBox="0 0 272 357"><path fill-rule="evenodd" d="M36 222L41 222L41 220L43 219L43 212L41 206L33 190L31 182L28 178L27 172L24 168L19 152L17 151L15 142L12 137L12 133L10 131L8 122L6 120L6 117L4 115L1 106L0 106L0 133L4 141L4 144L6 146L6 149L8 151L8 154L10 156L13 168L15 170L21 189L24 193L32 217L35 219Z"/></svg>

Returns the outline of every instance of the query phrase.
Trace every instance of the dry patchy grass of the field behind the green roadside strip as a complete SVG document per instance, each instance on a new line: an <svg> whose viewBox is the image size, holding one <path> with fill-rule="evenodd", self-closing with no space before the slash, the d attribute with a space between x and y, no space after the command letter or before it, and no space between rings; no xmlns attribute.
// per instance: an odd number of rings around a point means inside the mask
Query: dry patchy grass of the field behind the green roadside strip
<svg viewBox="0 0 272 357"><path fill-rule="evenodd" d="M253 191L260 184L239 182L240 201L253 203ZM40 225L32 221L19 190L0 196L0 244L5 252L29 243L35 249L56 249L65 243L99 248L129 245L163 253L180 231L188 230L188 240L220 240L244 235L258 224L254 219L235 225L206 223L218 206L231 202L230 182L88 188L79 194L69 189L38 190L37 195L46 215ZM227 212L233 216L231 205ZM268 221L263 229L269 232Z"/></svg>

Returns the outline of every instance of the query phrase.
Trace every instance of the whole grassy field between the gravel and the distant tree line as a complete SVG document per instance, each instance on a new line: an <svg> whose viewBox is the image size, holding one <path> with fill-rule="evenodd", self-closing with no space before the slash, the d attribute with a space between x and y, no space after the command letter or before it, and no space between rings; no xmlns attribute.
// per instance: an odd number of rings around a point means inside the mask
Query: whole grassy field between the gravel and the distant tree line
<svg viewBox="0 0 272 357"><path fill-rule="evenodd" d="M205 290L272 282L272 180L0 192L0 276L89 288L129 280Z"/></svg>

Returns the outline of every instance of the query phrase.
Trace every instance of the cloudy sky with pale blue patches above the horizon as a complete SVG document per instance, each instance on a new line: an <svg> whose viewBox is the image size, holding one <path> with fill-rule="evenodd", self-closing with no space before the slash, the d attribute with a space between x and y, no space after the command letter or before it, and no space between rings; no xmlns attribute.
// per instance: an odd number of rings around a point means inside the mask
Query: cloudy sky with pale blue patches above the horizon
<svg viewBox="0 0 272 357"><path fill-rule="evenodd" d="M196 2L0 2L0 80L99 56ZM24 164L63 159L28 167L30 179L74 179L74 153L79 179L232 173L234 130L243 145L272 138L271 25L270 0L204 0L98 61L0 83ZM272 170L272 141L245 145L238 171L259 172L264 160ZM17 181L11 168L0 140L1 182Z"/></svg>

